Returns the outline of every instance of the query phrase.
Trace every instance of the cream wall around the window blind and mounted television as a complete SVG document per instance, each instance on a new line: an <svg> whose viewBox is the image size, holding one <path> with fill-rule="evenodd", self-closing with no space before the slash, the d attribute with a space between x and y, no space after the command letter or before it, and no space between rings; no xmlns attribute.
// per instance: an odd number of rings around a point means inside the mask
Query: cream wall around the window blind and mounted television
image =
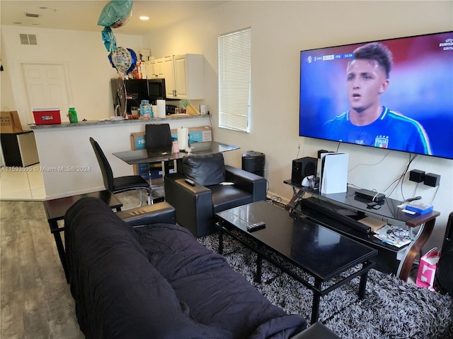
<svg viewBox="0 0 453 339"><path fill-rule="evenodd" d="M404 37L453 29L452 1L229 1L196 18L144 37L155 57L169 54L205 55L205 104L212 114L214 138L234 143L241 151L266 155L265 176L270 192L285 201L292 196L283 180L291 177L292 160L316 157L317 150L336 150L338 143L298 136L299 51L392 37ZM251 133L218 129L217 37L252 28ZM400 176L408 153L340 145L350 153L348 182L367 189L383 190ZM231 165L241 166L241 153L225 155ZM385 157L385 159L384 159ZM382 161L381 161L382 160ZM377 164L377 165L374 165ZM440 174L436 189L419 185L417 195L433 201L442 213L425 246L440 246L448 214L453 211L453 161L418 156L411 169ZM403 181L407 198L415 183ZM401 198L401 189L391 194Z"/></svg>

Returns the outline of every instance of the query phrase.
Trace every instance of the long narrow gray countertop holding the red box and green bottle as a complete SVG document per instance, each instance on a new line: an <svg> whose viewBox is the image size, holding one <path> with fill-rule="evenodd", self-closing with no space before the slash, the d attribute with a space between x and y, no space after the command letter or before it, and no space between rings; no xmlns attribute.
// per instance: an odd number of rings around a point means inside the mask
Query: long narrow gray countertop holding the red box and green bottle
<svg viewBox="0 0 453 339"><path fill-rule="evenodd" d="M36 125L31 124L30 129L62 129L62 128L76 128L80 126L112 126L116 124L149 124L155 121L172 121L172 120L180 120L180 119L200 119L206 118L207 115L188 115L185 117L173 117L171 115L167 115L165 118L150 118L150 119L130 119L130 120L88 120L88 121L79 121L76 124L70 124L69 122L62 122L61 124L49 124L49 125Z"/></svg>

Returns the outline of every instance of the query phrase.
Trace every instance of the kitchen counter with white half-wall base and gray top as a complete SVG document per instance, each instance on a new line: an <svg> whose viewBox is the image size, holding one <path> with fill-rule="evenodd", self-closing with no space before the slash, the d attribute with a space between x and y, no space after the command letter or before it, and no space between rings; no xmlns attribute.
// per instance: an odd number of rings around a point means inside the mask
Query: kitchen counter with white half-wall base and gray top
<svg viewBox="0 0 453 339"><path fill-rule="evenodd" d="M121 177L134 174L134 169L112 153L131 150L131 134L144 132L145 125L168 123L171 129L210 126L209 115L167 117L30 126L35 133L46 200L105 189L90 137L101 145L113 175Z"/></svg>

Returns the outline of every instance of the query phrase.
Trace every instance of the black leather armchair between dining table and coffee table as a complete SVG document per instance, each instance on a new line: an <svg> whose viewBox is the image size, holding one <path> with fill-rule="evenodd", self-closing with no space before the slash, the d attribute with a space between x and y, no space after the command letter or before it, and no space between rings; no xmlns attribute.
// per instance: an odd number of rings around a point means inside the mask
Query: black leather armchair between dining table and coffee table
<svg viewBox="0 0 453 339"><path fill-rule="evenodd" d="M186 183L186 178L195 186ZM176 210L176 222L195 237L216 231L215 213L265 200L266 186L265 178L224 165L222 153L187 155L182 159L182 173L164 177L166 201Z"/></svg>

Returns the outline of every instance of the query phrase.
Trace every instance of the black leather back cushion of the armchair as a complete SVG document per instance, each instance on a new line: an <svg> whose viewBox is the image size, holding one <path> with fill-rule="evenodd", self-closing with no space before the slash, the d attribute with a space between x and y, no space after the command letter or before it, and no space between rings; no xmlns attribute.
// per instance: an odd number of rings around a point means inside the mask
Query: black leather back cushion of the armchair
<svg viewBox="0 0 453 339"><path fill-rule="evenodd" d="M209 186L225 181L222 153L191 154L183 157L183 174L197 184Z"/></svg>

